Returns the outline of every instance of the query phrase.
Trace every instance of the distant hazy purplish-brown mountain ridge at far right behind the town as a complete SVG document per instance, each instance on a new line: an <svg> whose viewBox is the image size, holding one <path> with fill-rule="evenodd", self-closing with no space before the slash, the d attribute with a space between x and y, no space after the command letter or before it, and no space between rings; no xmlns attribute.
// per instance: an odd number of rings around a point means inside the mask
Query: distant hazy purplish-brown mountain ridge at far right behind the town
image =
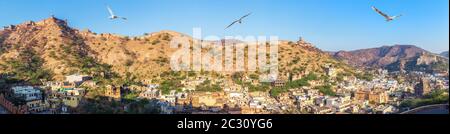
<svg viewBox="0 0 450 134"><path fill-rule="evenodd" d="M329 54L354 67L385 68L390 71L448 70L448 59L414 45L383 46Z"/></svg>

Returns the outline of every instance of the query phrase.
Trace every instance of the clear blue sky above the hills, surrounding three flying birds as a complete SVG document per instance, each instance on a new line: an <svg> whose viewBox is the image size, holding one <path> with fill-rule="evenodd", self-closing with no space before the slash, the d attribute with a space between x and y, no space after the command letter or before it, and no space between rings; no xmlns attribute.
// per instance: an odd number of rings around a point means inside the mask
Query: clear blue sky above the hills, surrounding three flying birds
<svg viewBox="0 0 450 134"><path fill-rule="evenodd" d="M106 5L128 21L108 19ZM389 15L386 22L371 9ZM449 49L449 0L1 0L0 26L55 15L71 27L139 36L161 30L203 36L301 36L325 51L385 45ZM243 24L224 28L252 13Z"/></svg>

